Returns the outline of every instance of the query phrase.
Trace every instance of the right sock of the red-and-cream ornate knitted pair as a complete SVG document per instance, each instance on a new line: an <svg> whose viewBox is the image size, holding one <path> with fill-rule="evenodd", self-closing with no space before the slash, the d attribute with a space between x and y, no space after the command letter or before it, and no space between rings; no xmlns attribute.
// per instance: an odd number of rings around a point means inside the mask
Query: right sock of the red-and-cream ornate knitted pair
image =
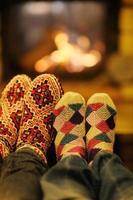
<svg viewBox="0 0 133 200"><path fill-rule="evenodd" d="M35 78L24 98L24 109L16 151L26 148L46 162L46 153L53 139L52 113L63 94L54 75Z"/></svg>

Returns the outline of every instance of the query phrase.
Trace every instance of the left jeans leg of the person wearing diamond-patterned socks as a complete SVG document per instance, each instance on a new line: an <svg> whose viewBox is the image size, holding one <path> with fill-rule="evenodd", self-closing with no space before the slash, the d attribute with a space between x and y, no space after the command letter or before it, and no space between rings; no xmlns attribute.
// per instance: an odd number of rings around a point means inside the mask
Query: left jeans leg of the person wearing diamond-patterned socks
<svg viewBox="0 0 133 200"><path fill-rule="evenodd" d="M78 156L59 161L41 179L45 200L95 199L91 186L91 171Z"/></svg>

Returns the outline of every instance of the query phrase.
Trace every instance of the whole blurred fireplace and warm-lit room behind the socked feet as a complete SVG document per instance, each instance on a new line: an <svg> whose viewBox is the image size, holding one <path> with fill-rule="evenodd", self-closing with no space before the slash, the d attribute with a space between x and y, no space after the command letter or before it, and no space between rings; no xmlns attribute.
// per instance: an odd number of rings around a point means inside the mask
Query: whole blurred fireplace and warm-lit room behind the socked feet
<svg viewBox="0 0 133 200"><path fill-rule="evenodd" d="M57 75L118 108L115 151L133 171L133 1L11 1L0 10L0 91L16 74Z"/></svg>

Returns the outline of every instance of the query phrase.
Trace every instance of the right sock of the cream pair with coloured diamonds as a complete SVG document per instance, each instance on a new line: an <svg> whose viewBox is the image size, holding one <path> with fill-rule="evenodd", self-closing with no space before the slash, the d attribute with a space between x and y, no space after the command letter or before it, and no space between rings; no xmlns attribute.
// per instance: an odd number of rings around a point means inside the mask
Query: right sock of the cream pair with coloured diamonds
<svg viewBox="0 0 133 200"><path fill-rule="evenodd" d="M86 148L88 161L100 150L113 152L116 107L104 93L92 95L86 109Z"/></svg>

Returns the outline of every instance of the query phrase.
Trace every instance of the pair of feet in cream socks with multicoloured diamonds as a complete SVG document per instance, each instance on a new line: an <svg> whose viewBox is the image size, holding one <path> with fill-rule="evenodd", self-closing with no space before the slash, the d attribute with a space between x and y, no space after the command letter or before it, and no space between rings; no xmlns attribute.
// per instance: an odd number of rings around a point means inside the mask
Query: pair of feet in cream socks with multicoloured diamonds
<svg viewBox="0 0 133 200"><path fill-rule="evenodd" d="M68 155L86 157L88 163L101 150L113 152L116 107L104 93L92 95L85 104L79 93L67 92L54 109L57 159Z"/></svg>

